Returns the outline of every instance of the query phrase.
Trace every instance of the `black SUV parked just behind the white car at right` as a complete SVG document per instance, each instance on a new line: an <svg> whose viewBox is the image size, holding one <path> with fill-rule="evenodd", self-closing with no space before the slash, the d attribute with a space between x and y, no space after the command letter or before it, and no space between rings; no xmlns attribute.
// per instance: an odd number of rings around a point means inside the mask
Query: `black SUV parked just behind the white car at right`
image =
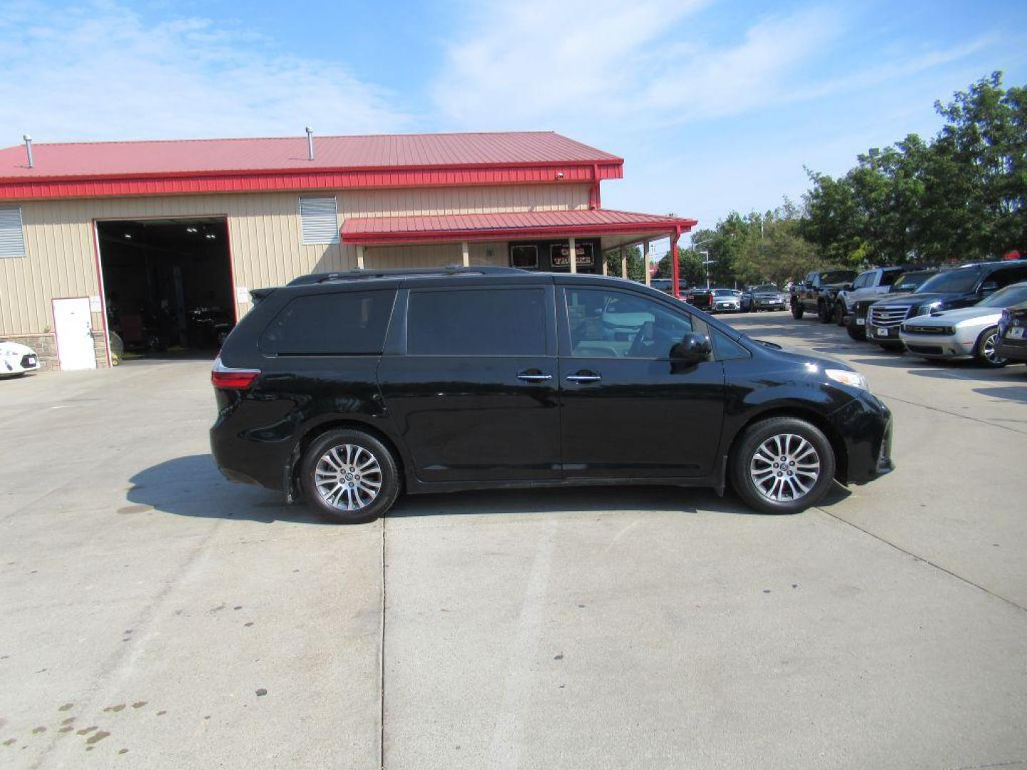
<svg viewBox="0 0 1027 770"><path fill-rule="evenodd" d="M899 328L907 318L969 307L1011 283L1027 280L1027 261L979 262L945 270L910 294L888 294L870 306L867 339L901 350Z"/></svg>

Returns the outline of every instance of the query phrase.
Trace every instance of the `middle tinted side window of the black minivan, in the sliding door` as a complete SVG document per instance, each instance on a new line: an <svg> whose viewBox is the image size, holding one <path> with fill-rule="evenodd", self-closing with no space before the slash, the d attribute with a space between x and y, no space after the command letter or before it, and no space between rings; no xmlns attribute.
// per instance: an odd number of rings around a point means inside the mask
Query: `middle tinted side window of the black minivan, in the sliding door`
<svg viewBox="0 0 1027 770"><path fill-rule="evenodd" d="M545 355L544 288L413 291L410 355Z"/></svg>

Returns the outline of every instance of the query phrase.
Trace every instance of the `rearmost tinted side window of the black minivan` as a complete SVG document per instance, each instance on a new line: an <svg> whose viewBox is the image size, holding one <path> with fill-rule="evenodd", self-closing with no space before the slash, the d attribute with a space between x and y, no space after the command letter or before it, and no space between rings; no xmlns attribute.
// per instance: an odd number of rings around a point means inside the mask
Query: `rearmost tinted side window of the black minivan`
<svg viewBox="0 0 1027 770"><path fill-rule="evenodd" d="M274 317L260 349L276 355L380 353L395 292L297 297Z"/></svg>

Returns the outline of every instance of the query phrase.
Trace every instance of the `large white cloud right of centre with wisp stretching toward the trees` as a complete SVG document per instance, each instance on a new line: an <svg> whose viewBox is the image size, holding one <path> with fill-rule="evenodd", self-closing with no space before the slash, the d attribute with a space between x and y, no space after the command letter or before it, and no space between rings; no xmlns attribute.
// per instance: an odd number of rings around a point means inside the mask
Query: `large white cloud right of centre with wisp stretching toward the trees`
<svg viewBox="0 0 1027 770"><path fill-rule="evenodd" d="M837 12L813 7L756 18L735 42L713 47L701 26L685 23L706 4L485 3L456 31L434 100L458 125L483 116L579 125L739 114L787 95L789 79L842 31Z"/></svg>

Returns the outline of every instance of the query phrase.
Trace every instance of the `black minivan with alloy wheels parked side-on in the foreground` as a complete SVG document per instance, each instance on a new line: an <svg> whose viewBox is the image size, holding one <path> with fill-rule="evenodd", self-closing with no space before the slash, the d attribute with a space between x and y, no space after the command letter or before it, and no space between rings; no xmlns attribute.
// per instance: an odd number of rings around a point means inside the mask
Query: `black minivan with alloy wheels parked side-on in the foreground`
<svg viewBox="0 0 1027 770"><path fill-rule="evenodd" d="M624 484L791 513L892 467L862 375L619 278L353 271L254 296L212 373L215 460L340 521L403 491Z"/></svg>

